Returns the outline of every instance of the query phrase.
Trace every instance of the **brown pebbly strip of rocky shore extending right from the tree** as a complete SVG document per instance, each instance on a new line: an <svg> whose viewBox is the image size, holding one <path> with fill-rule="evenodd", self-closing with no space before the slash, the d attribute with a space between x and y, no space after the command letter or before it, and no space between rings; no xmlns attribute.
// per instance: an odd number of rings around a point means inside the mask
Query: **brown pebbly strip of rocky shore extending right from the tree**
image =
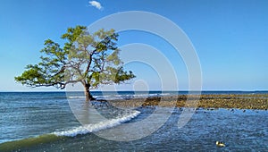
<svg viewBox="0 0 268 152"><path fill-rule="evenodd" d="M108 101L117 107L176 106L202 108L268 109L268 94L180 95Z"/></svg>

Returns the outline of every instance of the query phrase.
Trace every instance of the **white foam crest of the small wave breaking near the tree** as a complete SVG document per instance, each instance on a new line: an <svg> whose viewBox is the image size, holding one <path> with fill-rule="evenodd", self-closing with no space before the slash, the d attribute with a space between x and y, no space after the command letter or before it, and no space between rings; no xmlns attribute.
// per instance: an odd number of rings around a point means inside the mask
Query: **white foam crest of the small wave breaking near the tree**
<svg viewBox="0 0 268 152"><path fill-rule="evenodd" d="M138 114L140 114L140 112L133 111L133 113L121 116L119 118L109 119L108 121L105 121L105 122L86 124L84 126L76 127L74 129L67 130L67 131L54 131L53 134L56 136L75 137L77 135L88 134L88 133L94 132L94 131L101 131L101 130L105 130L105 129L117 126L117 125L121 124L122 122L128 122L131 119L138 116Z"/></svg>

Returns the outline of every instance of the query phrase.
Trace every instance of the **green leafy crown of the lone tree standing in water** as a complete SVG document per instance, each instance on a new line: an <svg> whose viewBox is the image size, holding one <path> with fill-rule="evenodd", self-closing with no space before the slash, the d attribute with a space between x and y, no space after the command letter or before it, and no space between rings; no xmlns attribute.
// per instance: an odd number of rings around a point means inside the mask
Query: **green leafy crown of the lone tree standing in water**
<svg viewBox="0 0 268 152"><path fill-rule="evenodd" d="M61 37L63 47L51 39L40 51L41 62L29 64L15 80L30 87L54 86L64 89L69 83L80 82L86 89L101 84L121 83L135 77L125 72L119 57L120 49L114 30L98 30L90 34L86 27L69 28Z"/></svg>

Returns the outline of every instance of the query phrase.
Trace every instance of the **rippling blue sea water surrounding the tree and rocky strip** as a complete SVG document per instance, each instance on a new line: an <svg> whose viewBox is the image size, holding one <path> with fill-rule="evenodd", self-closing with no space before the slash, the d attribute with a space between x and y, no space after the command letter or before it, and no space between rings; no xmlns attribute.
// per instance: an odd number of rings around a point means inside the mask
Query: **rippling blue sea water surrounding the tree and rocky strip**
<svg viewBox="0 0 268 152"><path fill-rule="evenodd" d="M203 94L258 94L265 91L205 91ZM185 92L94 92L98 99L129 99L188 94ZM184 108L155 107L120 109L109 103L85 104L82 92L2 92L0 93L0 151L268 151L268 112L243 109L199 108L189 122L178 128ZM93 111L92 109L96 109ZM101 114L105 119L100 119ZM155 121L147 121L152 114ZM116 141L98 132L119 129L121 135L142 135L151 123L163 125L142 139ZM144 121L140 130L124 124ZM138 127L138 126L137 126ZM127 136L129 137L129 136ZM226 147L219 148L216 141Z"/></svg>

